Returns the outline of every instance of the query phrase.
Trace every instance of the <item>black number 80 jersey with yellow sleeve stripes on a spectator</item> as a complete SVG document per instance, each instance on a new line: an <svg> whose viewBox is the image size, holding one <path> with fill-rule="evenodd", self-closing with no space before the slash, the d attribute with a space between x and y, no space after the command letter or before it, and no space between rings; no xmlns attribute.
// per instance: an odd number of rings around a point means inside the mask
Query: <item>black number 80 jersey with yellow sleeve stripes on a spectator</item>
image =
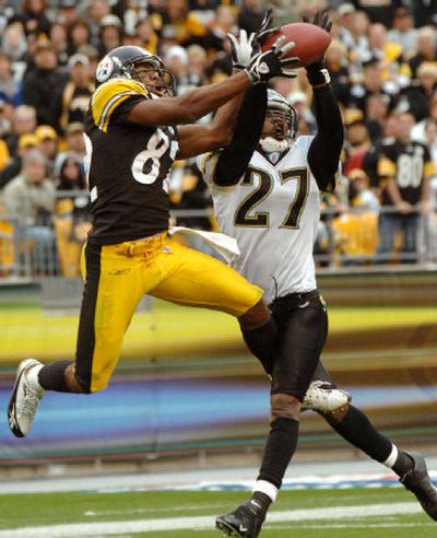
<svg viewBox="0 0 437 538"><path fill-rule="evenodd" d="M382 154L378 160L378 175L380 177L394 177L402 200L415 204L421 199L424 177L429 175L429 150L420 142L408 144L393 141L382 148ZM392 206L392 201L386 189L382 190L382 203Z"/></svg>

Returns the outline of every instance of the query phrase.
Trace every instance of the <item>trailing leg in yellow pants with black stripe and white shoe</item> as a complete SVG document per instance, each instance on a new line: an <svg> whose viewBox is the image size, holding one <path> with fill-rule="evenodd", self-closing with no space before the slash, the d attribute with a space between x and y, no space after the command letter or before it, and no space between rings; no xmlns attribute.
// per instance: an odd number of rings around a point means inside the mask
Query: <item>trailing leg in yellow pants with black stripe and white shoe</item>
<svg viewBox="0 0 437 538"><path fill-rule="evenodd" d="M28 433L45 390L90 394L106 387L143 294L139 260L118 252L120 248L86 245L75 361L43 365L29 359L20 364L8 409L14 435Z"/></svg>

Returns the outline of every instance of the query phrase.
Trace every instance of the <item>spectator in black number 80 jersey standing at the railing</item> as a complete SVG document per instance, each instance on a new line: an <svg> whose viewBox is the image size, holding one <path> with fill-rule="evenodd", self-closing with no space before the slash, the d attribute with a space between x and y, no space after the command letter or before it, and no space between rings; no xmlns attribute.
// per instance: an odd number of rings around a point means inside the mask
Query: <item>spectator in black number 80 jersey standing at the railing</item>
<svg viewBox="0 0 437 538"><path fill-rule="evenodd" d="M382 182L382 204L389 210L379 219L379 261L392 256L395 236L402 232L401 261L418 259L417 233L420 214L429 211L429 179L435 174L429 150L411 140L414 116L398 118L397 140L383 148L378 173Z"/></svg>

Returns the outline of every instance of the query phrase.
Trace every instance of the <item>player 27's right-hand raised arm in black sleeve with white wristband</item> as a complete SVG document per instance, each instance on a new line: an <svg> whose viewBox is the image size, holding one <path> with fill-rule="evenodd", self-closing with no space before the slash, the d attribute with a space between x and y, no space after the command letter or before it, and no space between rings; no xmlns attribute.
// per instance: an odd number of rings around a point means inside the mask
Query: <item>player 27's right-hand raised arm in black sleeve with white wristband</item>
<svg viewBox="0 0 437 538"><path fill-rule="evenodd" d="M304 22L309 22L304 19ZM329 32L332 23L326 12L316 12L312 24ZM314 91L318 131L308 150L308 164L321 190L335 188L343 147L343 122L340 107L330 85L330 74L322 58L306 67Z"/></svg>

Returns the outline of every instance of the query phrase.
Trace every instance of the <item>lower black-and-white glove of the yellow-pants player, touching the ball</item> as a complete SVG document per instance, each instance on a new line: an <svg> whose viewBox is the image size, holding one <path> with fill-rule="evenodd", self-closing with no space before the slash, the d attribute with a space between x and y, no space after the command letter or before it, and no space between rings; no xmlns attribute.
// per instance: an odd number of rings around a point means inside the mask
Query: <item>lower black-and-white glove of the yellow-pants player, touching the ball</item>
<svg viewBox="0 0 437 538"><path fill-rule="evenodd" d="M297 57L284 58L295 46L294 42L283 45L285 36L281 36L273 44L271 50L256 55L246 69L252 84L267 82L273 77L286 77L294 79L297 74L286 68L298 67L300 59Z"/></svg>

